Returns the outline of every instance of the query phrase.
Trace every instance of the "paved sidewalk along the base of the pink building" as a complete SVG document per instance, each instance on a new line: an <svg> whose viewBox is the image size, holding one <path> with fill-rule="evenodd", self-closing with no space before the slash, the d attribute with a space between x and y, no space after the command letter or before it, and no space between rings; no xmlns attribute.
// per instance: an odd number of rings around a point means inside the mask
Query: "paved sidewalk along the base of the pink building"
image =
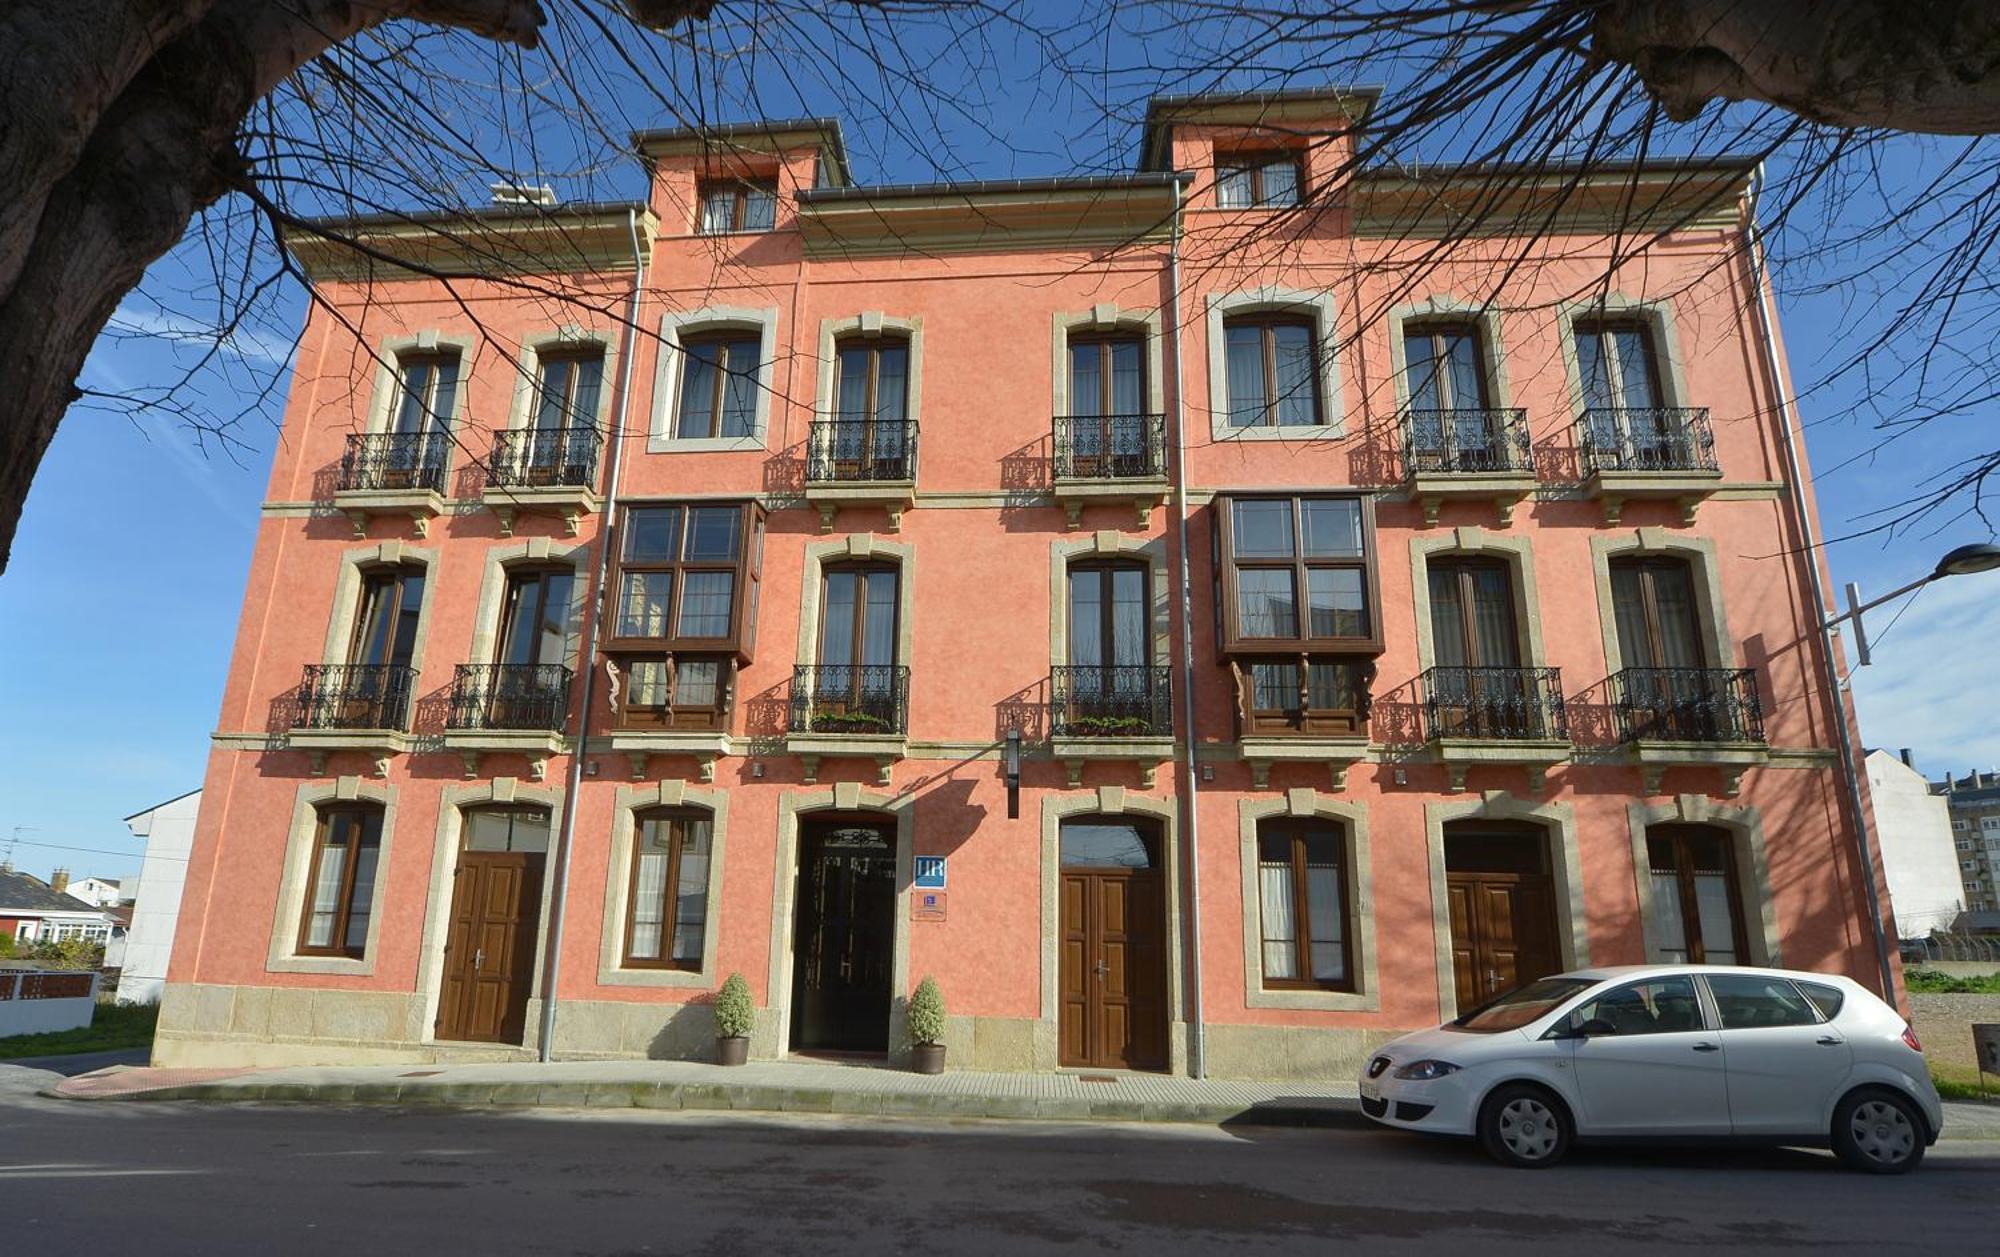
<svg viewBox="0 0 2000 1257"><path fill-rule="evenodd" d="M890 1117L1354 1125L1352 1083L1196 1081L1144 1073L918 1075L872 1065L692 1061L354 1065L264 1071L106 1069L44 1095L80 1101L294 1101L564 1109L746 1109Z"/></svg>

